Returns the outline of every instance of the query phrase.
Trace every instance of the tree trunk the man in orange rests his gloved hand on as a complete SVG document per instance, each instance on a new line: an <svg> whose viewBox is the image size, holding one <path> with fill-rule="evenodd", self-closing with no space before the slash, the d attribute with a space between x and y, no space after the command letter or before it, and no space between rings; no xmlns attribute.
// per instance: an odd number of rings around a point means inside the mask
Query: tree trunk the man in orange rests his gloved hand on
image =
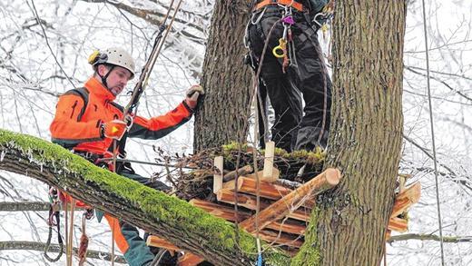
<svg viewBox="0 0 472 266"><path fill-rule="evenodd" d="M245 141L251 107L251 70L243 36L251 1L215 1L203 62L204 101L195 114L195 151Z"/></svg>

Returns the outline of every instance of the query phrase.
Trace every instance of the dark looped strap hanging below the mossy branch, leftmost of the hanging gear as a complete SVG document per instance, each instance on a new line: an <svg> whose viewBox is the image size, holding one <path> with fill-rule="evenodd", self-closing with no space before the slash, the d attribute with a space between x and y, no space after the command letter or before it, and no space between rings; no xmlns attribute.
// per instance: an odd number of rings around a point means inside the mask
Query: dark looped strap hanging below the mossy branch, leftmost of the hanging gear
<svg viewBox="0 0 472 266"><path fill-rule="evenodd" d="M61 220L59 215L59 192L54 187L49 188L49 216L47 218L47 224L49 225L49 233L47 236L46 246L44 248L44 258L47 261L55 262L61 259L61 256L64 253L64 242L63 237L61 236ZM49 257L47 251L49 251L49 247L51 246L51 239L53 238L53 227L56 227L57 230L57 242L59 243L59 254L55 258Z"/></svg>

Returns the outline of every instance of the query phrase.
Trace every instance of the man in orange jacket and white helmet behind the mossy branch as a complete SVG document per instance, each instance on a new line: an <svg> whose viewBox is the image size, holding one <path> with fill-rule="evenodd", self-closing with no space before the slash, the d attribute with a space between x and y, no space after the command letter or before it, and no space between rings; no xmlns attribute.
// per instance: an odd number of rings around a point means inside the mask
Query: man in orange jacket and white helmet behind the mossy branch
<svg viewBox="0 0 472 266"><path fill-rule="evenodd" d="M123 107L113 101L122 93L128 81L133 79L134 61L123 49L109 48L92 54L89 63L93 65L93 76L84 87L70 90L59 97L50 131L53 143L98 163L103 157L113 156L113 140L121 140L126 133ZM134 116L127 136L155 140L171 133L191 119L198 95L202 94L202 86L193 85L185 100L171 112L151 119ZM124 157L123 145L120 146L118 156ZM170 189L162 182L151 182L136 174L130 163L117 163L115 170L154 189ZM119 222L110 215L105 215L105 218L114 230L118 248L130 265L141 266L152 262L153 254L134 226Z"/></svg>

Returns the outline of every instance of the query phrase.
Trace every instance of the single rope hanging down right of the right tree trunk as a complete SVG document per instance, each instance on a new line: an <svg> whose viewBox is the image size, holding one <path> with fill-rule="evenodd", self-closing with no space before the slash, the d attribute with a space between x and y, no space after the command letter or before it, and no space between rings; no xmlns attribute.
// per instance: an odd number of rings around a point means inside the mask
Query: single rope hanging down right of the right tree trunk
<svg viewBox="0 0 472 266"><path fill-rule="evenodd" d="M422 0L422 9L423 9L423 29L425 34L425 54L426 54L426 71L427 71L427 87L428 87L428 106L429 106L429 121L431 125L431 144L433 150L433 162L434 162L434 175L435 175L435 184L436 184L436 202L438 206L438 223L439 223L439 239L441 247L441 265L444 263L444 243L443 243L443 233L442 233L442 219L441 219L441 205L439 199L439 182L438 182L438 160L436 159L436 142L435 142L435 133L434 133L434 121L433 121L433 103L431 100L431 86L429 84L429 53L428 53L428 29L426 26L426 6L425 0Z"/></svg>

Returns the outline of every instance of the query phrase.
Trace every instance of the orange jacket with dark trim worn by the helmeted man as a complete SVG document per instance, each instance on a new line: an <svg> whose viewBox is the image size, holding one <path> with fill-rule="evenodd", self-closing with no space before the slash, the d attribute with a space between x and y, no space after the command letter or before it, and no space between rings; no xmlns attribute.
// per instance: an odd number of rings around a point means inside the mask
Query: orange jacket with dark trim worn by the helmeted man
<svg viewBox="0 0 472 266"><path fill-rule="evenodd" d="M113 140L100 136L100 125L113 119L123 120L123 107L113 103L115 96L93 77L84 89L88 92L88 103L84 103L83 96L74 91L59 97L54 121L49 127L52 141L74 147L74 151L104 155ZM192 109L183 101L171 112L151 119L135 116L128 136L159 139L191 117Z"/></svg>

